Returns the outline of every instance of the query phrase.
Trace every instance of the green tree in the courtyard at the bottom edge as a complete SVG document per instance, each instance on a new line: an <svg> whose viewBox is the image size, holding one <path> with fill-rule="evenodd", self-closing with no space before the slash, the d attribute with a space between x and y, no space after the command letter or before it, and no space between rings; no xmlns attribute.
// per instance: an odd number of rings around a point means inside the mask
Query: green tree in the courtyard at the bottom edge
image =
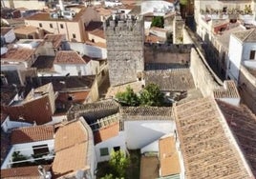
<svg viewBox="0 0 256 179"><path fill-rule="evenodd" d="M109 165L113 169L116 178L124 178L125 169L130 165L130 158L125 156L124 151L111 151Z"/></svg>

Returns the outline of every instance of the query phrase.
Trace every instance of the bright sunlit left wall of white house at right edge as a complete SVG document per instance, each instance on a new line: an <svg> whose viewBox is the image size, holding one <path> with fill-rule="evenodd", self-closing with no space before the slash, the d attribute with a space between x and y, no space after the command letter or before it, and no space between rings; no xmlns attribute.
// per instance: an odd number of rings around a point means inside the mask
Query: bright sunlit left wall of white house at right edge
<svg viewBox="0 0 256 179"><path fill-rule="evenodd" d="M229 40L229 50L228 50L228 64L227 64L227 75L238 81L239 70L241 66L243 53L243 45L242 43L236 39L233 35L230 36Z"/></svg>

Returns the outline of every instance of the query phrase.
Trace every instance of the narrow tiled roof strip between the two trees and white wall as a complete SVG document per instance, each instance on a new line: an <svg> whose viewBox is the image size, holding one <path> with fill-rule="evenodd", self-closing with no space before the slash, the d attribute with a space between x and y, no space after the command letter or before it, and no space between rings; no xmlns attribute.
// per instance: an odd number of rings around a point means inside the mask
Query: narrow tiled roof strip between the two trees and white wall
<svg viewBox="0 0 256 179"><path fill-rule="evenodd" d="M143 117L146 120L172 120L171 107L120 107L120 115L125 120L139 120Z"/></svg>

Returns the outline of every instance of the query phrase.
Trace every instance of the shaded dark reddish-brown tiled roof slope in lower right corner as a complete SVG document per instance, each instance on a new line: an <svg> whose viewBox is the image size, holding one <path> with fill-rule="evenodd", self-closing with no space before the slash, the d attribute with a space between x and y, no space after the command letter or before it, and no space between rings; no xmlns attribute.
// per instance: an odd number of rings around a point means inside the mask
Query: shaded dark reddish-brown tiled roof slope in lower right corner
<svg viewBox="0 0 256 179"><path fill-rule="evenodd" d="M220 100L219 108L224 113L225 120L235 134L245 157L256 176L256 116L246 106L235 107Z"/></svg>

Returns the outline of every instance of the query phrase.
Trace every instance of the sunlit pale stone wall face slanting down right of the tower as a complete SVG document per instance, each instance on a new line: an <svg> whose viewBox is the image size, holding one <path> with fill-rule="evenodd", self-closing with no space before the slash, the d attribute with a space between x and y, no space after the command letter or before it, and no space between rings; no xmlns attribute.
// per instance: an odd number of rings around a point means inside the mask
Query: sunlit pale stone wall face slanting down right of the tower
<svg viewBox="0 0 256 179"><path fill-rule="evenodd" d="M212 95L213 89L219 89L221 87L215 82L211 73L206 69L203 61L194 48L191 50L190 71L193 75L196 88L201 89L204 97Z"/></svg>

